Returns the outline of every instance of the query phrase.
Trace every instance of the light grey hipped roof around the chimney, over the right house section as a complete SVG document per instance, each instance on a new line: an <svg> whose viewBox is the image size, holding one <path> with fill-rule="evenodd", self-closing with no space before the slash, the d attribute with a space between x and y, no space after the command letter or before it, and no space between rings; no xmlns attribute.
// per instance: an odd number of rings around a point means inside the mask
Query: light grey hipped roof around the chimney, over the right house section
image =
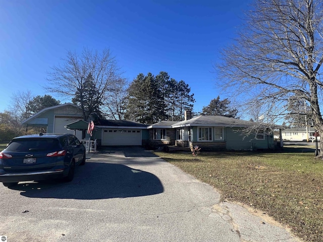
<svg viewBox="0 0 323 242"><path fill-rule="evenodd" d="M212 127L248 127L254 122L245 121L232 117L200 115L189 120L178 122L172 125L173 128L186 126L212 126Z"/></svg>

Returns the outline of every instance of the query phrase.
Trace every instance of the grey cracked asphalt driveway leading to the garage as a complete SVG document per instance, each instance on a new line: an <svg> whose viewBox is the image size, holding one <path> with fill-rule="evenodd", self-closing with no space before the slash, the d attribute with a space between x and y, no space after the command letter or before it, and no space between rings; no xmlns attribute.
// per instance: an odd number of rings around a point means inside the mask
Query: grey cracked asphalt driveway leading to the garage
<svg viewBox="0 0 323 242"><path fill-rule="evenodd" d="M0 185L0 196L8 241L298 241L137 147L88 154L70 183Z"/></svg>

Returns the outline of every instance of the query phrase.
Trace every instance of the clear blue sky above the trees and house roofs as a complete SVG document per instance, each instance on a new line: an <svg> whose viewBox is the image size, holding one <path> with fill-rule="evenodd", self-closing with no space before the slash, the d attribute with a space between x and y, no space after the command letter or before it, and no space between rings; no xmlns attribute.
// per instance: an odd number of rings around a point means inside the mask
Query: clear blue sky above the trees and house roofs
<svg viewBox="0 0 323 242"><path fill-rule="evenodd" d="M67 51L84 47L109 48L129 81L160 71L185 81L201 111L218 95L226 98L212 66L250 2L0 0L0 112L17 91L60 99L43 90L47 73Z"/></svg>

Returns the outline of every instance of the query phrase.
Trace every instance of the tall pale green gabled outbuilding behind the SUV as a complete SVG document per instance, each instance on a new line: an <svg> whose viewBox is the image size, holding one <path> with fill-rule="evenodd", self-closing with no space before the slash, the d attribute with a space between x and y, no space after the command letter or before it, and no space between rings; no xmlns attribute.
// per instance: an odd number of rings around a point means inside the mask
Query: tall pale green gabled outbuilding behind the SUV
<svg viewBox="0 0 323 242"><path fill-rule="evenodd" d="M69 133L74 130L67 130L66 125L83 118L82 109L73 103L65 103L57 106L47 107L35 113L22 122L28 127L46 127L46 133ZM82 139L82 132L77 131L76 137Z"/></svg>

